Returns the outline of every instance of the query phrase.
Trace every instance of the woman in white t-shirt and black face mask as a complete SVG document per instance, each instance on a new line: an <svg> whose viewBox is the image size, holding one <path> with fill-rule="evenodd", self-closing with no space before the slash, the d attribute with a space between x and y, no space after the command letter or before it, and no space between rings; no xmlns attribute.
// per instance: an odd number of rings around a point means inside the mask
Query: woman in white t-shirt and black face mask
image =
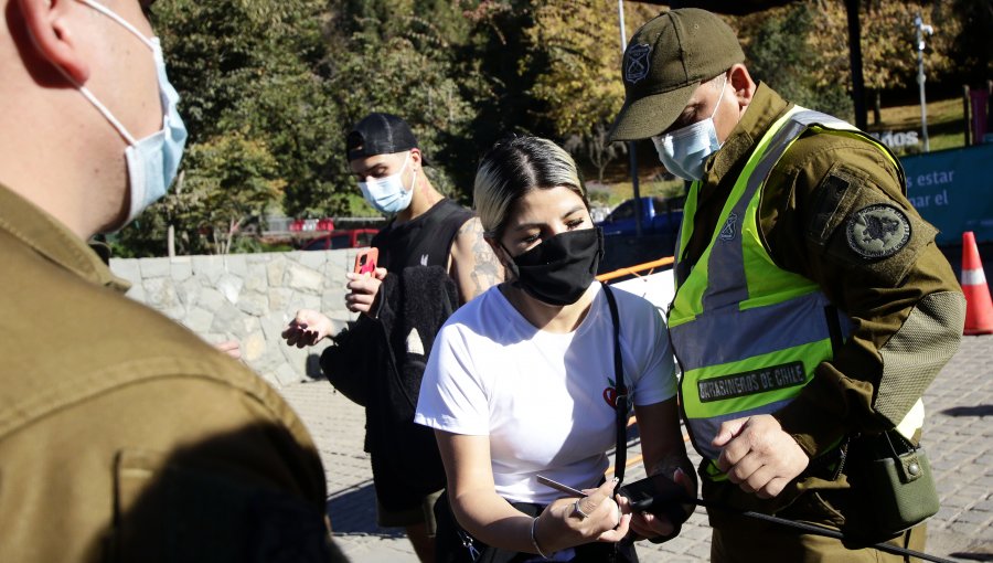
<svg viewBox="0 0 993 563"><path fill-rule="evenodd" d="M448 319L420 387L415 421L435 428L448 477L438 561L637 561L622 540L677 527L631 513L605 480L617 437L615 320L594 278L604 241L576 164L546 139L500 142L480 163L474 204L508 282ZM612 295L645 470L695 495L662 316Z"/></svg>

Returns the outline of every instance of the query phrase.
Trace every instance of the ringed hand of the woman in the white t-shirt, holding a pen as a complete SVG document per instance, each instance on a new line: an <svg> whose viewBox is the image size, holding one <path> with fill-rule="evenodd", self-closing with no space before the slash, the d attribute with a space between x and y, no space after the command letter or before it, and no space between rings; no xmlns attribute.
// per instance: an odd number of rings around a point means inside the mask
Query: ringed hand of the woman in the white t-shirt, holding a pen
<svg viewBox="0 0 993 563"><path fill-rule="evenodd" d="M542 551L549 553L591 541L618 542L628 534L630 514L622 514L615 500L615 481L605 481L597 489L587 489L581 499L558 499L538 517L535 537Z"/></svg>

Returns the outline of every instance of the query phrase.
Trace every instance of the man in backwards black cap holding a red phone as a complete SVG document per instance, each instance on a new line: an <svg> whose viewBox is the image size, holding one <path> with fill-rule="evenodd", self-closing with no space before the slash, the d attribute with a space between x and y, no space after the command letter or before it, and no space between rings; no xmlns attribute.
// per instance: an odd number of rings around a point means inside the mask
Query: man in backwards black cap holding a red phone
<svg viewBox="0 0 993 563"><path fill-rule="evenodd" d="M445 470L433 431L414 424L413 410L407 413L413 404L391 402L389 396L404 393L397 391L397 381L419 389L435 332L450 311L430 311L427 330L408 332L403 322L392 322L394 315L384 315L384 308L403 291L415 296L405 306L408 317L412 300L421 302L415 309L424 316L426 309L437 307L428 304L434 299L429 291L440 291L447 284L453 286L452 307L458 307L500 283L503 270L483 240L479 219L431 185L424 173L424 155L406 121L391 114L370 114L349 132L345 145L362 195L392 220L371 243L380 252L375 275L348 274L348 308L362 316L345 331L350 338L335 337L339 346L324 351L321 365L325 373L353 370L370 379L365 448L372 459L378 524L405 528L420 561L434 561L433 508L445 486ZM441 272L442 278L429 277L424 267ZM302 309L284 336L288 344L303 347L332 330L328 317ZM360 358L375 360L355 365ZM417 390L406 391L416 403Z"/></svg>

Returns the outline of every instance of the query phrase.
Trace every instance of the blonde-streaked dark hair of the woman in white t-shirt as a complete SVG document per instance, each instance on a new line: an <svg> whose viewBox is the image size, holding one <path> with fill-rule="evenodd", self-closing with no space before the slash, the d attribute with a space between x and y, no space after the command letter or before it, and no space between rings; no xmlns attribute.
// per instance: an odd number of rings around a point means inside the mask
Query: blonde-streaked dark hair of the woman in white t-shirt
<svg viewBox="0 0 993 563"><path fill-rule="evenodd" d="M508 215L524 194L558 187L575 192L589 209L579 169L562 147L531 136L498 142L480 161L472 193L485 235L503 234Z"/></svg>

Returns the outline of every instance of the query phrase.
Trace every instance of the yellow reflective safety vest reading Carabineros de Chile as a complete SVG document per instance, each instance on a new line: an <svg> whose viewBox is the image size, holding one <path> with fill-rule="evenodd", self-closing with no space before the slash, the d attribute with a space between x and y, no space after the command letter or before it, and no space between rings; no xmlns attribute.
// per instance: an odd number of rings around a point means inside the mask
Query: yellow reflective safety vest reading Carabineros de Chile
<svg viewBox="0 0 993 563"><path fill-rule="evenodd" d="M900 166L889 150L851 125L794 106L759 140L707 248L692 270L681 275L679 258L693 233L700 182L690 188L676 243L669 331L683 370L680 392L690 436L712 461L720 454L711 442L723 422L770 414L791 402L813 379L818 364L833 358L832 336L840 342L850 331L848 319L831 307L815 283L773 263L756 216L769 172L808 129L863 139ZM912 435L923 423L920 401L908 421ZM708 474L724 477L713 463Z"/></svg>

